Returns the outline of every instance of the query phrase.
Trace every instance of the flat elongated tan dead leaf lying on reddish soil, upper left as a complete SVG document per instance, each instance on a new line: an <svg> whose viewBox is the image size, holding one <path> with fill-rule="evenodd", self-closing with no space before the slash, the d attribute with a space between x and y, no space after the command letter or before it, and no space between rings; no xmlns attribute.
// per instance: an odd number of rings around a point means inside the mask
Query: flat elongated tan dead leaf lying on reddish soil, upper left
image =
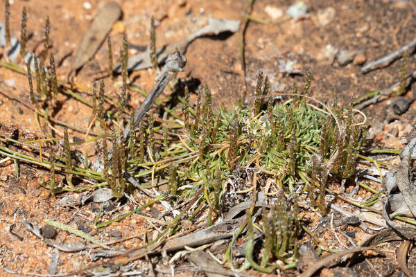
<svg viewBox="0 0 416 277"><path fill-rule="evenodd" d="M121 8L118 3L107 3L103 10L92 20L87 33L83 36L75 60L72 63L72 70L77 70L88 62L103 43L112 25L121 17Z"/></svg>

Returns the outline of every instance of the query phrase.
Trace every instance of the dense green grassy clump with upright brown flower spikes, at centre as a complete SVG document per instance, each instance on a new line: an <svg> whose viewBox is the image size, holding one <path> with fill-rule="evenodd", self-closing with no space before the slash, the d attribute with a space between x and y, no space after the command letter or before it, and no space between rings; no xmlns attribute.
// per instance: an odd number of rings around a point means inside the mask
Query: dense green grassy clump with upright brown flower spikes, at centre
<svg viewBox="0 0 416 277"><path fill-rule="evenodd" d="M297 197L307 193L310 204L324 215L329 172L340 179L352 176L357 153L363 145L360 139L363 118L356 116L351 105L345 110L340 109L335 96L331 109L309 103L310 82L311 76L307 75L300 93L297 85L292 93L288 93L296 97L276 102L269 93L268 78L263 79L259 73L254 108L234 105L232 109L219 110L212 107L208 87L204 89L203 99L202 93L198 93L196 109L190 107L189 90L186 89L179 107L184 110L184 119L177 116L158 125L150 111L148 123L141 124L136 136L131 132L131 139L125 143L119 139L121 129L117 129L123 124L114 125L111 160L107 159L110 155L106 140L101 143L103 172L85 171L72 165L65 131L66 164L58 167L65 168L68 187L62 190L77 190L72 178L87 175L96 179L98 186L110 186L115 197L123 197L128 188L123 172L140 180L144 188L167 184L168 194L180 197L177 199L192 197L203 186L205 197L200 200L209 207L207 223L213 224L227 210L222 203L238 204L235 193L239 193L241 199L252 199L255 197L252 192L261 190L259 184L272 178L274 191L267 193L279 195L279 201L273 208L263 211L260 217L265 233L265 255L261 262L256 262L254 256L257 253L253 253L250 241L253 226L257 223L251 221L251 215L246 222L249 243L245 255L248 266L265 272L277 268L277 265L270 265L267 258L270 255L293 265L297 253L296 238L300 232ZM93 91L96 91L96 84ZM93 102L96 102L95 98ZM105 86L101 82L98 105L94 107L101 132L107 134L104 99ZM122 115L118 115L121 120ZM251 187L244 185L245 182L228 190L225 181L242 178L241 172L248 168L256 170L258 176Z"/></svg>

